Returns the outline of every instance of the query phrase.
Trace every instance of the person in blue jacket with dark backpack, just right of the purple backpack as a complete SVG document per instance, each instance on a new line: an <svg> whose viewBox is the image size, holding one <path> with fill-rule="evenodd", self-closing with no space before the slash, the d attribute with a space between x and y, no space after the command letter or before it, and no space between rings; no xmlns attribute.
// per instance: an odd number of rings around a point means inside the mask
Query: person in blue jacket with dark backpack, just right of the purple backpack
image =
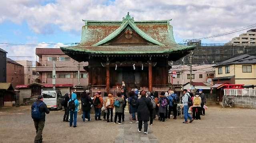
<svg viewBox="0 0 256 143"><path fill-rule="evenodd" d="M173 119L177 119L177 100L178 100L178 96L177 94L174 94L174 91L170 91L170 96L169 96L169 112L168 112L168 118L170 119L170 115L171 115L171 111L173 111L173 115L174 118Z"/></svg>

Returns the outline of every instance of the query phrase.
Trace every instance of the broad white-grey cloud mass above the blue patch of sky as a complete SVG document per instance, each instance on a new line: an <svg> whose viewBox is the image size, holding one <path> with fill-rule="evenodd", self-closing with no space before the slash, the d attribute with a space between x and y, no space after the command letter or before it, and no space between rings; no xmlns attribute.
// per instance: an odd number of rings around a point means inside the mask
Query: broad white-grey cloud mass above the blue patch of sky
<svg viewBox="0 0 256 143"><path fill-rule="evenodd" d="M63 31L80 33L81 20L122 20L126 12L135 20L172 18L176 39L190 39L224 33L251 25L256 16L255 0L56 0L41 5L35 0L5 0L0 5L0 23L27 22L36 33ZM242 33L242 32L241 32ZM208 41L227 42L239 33Z"/></svg>

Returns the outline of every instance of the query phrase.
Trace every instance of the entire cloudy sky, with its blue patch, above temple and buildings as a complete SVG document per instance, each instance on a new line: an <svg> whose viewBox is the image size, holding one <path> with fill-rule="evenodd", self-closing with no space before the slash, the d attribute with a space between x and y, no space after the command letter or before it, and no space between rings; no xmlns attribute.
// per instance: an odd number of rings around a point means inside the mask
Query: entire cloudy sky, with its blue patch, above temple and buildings
<svg viewBox="0 0 256 143"><path fill-rule="evenodd" d="M122 20L127 12L134 20L172 18L174 38L180 43L193 39L193 33L200 38L256 23L256 0L1 0L0 43L59 47L80 42L82 19ZM202 43L226 43L243 32L246 30ZM0 44L0 48L8 56L35 56L36 47Z"/></svg>

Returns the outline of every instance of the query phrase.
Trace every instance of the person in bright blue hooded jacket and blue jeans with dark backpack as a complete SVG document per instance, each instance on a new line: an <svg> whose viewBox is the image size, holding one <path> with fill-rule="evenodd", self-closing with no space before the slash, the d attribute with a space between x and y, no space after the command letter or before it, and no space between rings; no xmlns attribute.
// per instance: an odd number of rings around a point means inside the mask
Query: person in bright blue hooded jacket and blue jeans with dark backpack
<svg viewBox="0 0 256 143"><path fill-rule="evenodd" d="M70 122L69 122L70 127L72 127L73 120L74 120L73 127L76 127L76 117L77 117L78 105L79 105L79 102L76 99L76 94L72 93L71 99L68 101L68 108L69 108L69 112L70 112Z"/></svg>

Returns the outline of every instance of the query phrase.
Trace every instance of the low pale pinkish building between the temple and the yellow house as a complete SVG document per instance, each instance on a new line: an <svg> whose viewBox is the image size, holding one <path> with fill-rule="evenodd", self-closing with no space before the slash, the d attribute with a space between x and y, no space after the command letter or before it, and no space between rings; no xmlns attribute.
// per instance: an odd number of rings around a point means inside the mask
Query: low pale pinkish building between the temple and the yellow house
<svg viewBox="0 0 256 143"><path fill-rule="evenodd" d="M214 78L214 65L192 65L192 82L210 82ZM172 77L172 71L176 71L176 76ZM190 82L190 66L174 65L169 70L169 83L186 84Z"/></svg>

